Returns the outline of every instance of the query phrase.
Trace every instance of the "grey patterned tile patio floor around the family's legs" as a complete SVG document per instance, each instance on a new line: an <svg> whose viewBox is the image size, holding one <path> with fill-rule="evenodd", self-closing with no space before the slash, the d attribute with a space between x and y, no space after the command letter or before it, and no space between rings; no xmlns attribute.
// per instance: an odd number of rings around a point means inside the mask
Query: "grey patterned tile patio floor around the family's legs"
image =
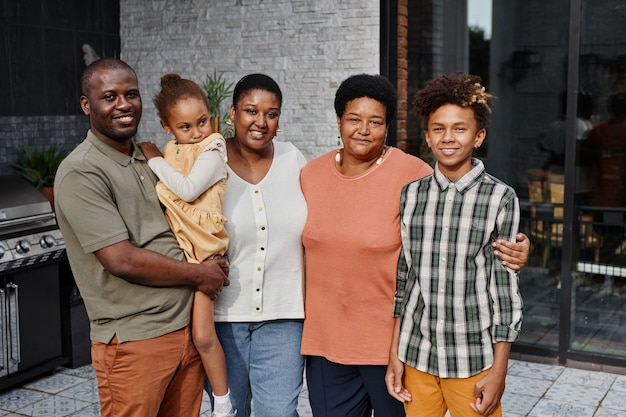
<svg viewBox="0 0 626 417"><path fill-rule="evenodd" d="M506 417L626 417L626 376L511 360L502 399ZM99 417L90 366L60 368L50 376L0 393L0 417ZM310 417L308 392L298 412ZM201 417L210 417L204 396Z"/></svg>

